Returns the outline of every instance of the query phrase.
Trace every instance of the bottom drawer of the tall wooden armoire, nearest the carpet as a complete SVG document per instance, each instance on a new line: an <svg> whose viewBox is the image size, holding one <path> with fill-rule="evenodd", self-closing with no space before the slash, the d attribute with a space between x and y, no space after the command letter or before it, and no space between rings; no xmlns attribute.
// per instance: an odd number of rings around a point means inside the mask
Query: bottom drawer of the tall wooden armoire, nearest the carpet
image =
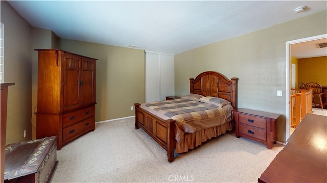
<svg viewBox="0 0 327 183"><path fill-rule="evenodd" d="M81 122L78 122L72 126L68 126L62 129L62 143L66 144L67 142L75 139L76 137L91 131L94 125L94 117L88 118Z"/></svg>

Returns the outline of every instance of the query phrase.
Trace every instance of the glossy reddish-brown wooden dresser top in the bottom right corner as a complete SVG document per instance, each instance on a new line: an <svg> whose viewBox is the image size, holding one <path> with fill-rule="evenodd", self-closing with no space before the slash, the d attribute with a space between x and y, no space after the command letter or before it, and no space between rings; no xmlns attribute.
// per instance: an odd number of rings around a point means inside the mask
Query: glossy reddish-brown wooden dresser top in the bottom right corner
<svg viewBox="0 0 327 183"><path fill-rule="evenodd" d="M326 121L327 116L307 114L258 181L327 182Z"/></svg>

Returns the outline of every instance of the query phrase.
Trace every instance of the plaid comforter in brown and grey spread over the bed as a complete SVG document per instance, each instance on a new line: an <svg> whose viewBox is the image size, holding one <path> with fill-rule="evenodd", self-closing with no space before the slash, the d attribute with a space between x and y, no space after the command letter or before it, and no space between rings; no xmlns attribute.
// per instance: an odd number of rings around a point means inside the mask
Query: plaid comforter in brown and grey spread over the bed
<svg viewBox="0 0 327 183"><path fill-rule="evenodd" d="M219 126L233 119L232 106L218 107L187 99L165 100L144 103L141 108L161 117L171 118L184 133Z"/></svg>

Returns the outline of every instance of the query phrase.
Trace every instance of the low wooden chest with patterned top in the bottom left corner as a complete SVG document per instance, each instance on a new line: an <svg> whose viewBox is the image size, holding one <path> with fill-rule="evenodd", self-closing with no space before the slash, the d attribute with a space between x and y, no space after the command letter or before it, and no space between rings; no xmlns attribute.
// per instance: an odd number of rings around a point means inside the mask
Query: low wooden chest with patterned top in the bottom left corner
<svg viewBox="0 0 327 183"><path fill-rule="evenodd" d="M8 144L5 182L51 182L57 164L57 136Z"/></svg>

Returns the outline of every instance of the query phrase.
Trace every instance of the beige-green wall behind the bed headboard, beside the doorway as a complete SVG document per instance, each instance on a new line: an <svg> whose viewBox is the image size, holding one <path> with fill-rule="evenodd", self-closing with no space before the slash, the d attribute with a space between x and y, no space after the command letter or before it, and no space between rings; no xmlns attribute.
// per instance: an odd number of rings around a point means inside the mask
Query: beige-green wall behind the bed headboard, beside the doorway
<svg viewBox="0 0 327 183"><path fill-rule="evenodd" d="M189 93L189 77L203 71L238 77L238 107L281 114L277 140L285 142L286 42L326 34L326 27L327 11L322 11L177 54L175 95Z"/></svg>

